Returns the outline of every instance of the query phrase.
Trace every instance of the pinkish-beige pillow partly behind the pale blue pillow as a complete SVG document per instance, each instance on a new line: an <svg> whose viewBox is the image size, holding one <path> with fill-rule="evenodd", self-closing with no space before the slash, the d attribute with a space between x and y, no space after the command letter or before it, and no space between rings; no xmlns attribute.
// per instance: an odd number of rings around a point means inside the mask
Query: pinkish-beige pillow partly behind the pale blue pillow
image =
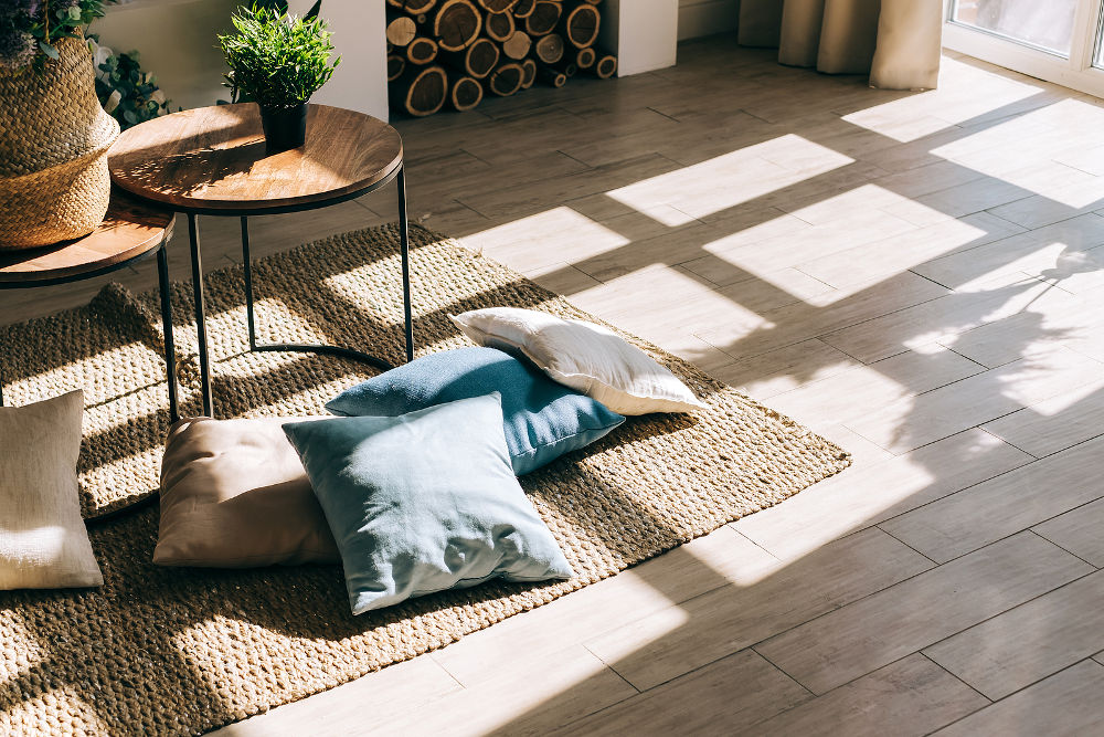
<svg viewBox="0 0 1104 737"><path fill-rule="evenodd" d="M209 568L340 562L299 454L282 429L309 419L316 418L177 422L161 462L153 562Z"/></svg>

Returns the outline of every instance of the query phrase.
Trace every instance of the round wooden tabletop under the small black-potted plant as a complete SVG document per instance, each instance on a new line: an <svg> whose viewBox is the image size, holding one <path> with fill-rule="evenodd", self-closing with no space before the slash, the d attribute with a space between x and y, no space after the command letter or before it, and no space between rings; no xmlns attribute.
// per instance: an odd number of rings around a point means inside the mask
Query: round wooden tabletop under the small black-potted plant
<svg viewBox="0 0 1104 737"><path fill-rule="evenodd" d="M382 186L402 166L399 131L340 107L310 105L307 143L265 152L253 103L155 118L112 147L112 181L176 210L263 214L310 209Z"/></svg>

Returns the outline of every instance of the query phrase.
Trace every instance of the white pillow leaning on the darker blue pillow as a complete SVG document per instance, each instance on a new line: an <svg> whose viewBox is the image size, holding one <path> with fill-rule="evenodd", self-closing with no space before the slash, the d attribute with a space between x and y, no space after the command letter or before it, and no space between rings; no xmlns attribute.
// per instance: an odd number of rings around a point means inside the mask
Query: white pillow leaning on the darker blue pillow
<svg viewBox="0 0 1104 737"><path fill-rule="evenodd" d="M480 346L522 355L552 379L618 414L689 412L704 407L675 375L613 331L517 307L450 315Z"/></svg>

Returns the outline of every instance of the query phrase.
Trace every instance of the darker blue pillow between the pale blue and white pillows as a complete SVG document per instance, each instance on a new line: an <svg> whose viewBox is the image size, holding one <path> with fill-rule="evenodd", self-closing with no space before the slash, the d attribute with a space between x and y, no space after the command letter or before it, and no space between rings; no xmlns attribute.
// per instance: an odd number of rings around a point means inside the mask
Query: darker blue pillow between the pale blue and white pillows
<svg viewBox="0 0 1104 737"><path fill-rule="evenodd" d="M590 445L625 421L495 348L423 356L338 394L326 409L347 417L394 417L491 391L502 394L506 443L519 476Z"/></svg>

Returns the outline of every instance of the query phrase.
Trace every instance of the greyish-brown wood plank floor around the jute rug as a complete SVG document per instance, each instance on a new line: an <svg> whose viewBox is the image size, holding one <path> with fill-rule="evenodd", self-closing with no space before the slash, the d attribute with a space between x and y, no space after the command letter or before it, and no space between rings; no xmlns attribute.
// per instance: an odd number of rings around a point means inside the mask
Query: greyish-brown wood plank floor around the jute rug
<svg viewBox="0 0 1104 737"><path fill-rule="evenodd" d="M1104 731L1101 101L957 54L937 92L873 91L718 36L399 127L427 225L856 463L221 734ZM255 249L394 212L258 222ZM235 223L202 224L209 265L237 259ZM17 319L96 287L0 297Z"/></svg>

